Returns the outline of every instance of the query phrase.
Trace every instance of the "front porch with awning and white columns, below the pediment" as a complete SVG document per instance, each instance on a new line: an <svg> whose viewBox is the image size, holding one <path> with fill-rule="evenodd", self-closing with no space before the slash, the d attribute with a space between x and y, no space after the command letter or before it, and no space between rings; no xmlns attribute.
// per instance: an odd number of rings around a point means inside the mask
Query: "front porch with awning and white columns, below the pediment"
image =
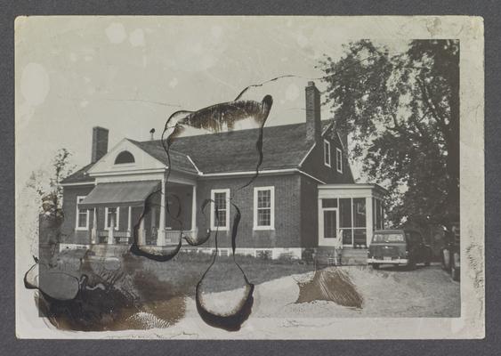
<svg viewBox="0 0 501 356"><path fill-rule="evenodd" d="M197 233L196 199L196 185L172 183L166 192L165 180L106 182L96 184L78 209L92 214L91 245L131 244L137 229L139 245L161 247L177 244L181 233Z"/></svg>

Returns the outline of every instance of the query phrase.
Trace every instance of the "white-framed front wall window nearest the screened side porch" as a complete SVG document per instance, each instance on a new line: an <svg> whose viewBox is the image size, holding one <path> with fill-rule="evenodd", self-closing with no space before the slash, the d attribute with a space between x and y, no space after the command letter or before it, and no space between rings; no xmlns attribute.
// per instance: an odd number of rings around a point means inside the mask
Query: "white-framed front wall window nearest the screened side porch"
<svg viewBox="0 0 501 356"><path fill-rule="evenodd" d="M254 189L254 230L275 229L275 187Z"/></svg>

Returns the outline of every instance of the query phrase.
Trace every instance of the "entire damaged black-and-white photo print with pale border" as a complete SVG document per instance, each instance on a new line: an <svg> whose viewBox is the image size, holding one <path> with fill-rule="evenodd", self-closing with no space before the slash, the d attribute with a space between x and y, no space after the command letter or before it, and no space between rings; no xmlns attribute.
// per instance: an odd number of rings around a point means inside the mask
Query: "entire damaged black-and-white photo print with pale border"
<svg viewBox="0 0 501 356"><path fill-rule="evenodd" d="M15 20L20 338L484 337L483 21Z"/></svg>

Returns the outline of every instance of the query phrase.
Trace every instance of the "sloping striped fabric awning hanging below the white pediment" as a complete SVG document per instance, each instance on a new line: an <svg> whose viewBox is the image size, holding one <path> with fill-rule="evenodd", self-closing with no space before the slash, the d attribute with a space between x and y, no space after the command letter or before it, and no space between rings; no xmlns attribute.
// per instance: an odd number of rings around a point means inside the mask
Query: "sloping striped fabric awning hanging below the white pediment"
<svg viewBox="0 0 501 356"><path fill-rule="evenodd" d="M97 206L142 206L155 190L160 190L159 181L99 183L78 207L90 209Z"/></svg>

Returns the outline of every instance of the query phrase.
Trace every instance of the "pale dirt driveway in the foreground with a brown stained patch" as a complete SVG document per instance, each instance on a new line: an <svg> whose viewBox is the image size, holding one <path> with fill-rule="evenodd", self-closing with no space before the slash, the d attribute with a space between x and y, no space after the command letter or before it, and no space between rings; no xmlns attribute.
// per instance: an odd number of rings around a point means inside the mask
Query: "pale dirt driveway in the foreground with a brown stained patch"
<svg viewBox="0 0 501 356"><path fill-rule="evenodd" d="M343 283L330 286L325 276L317 279L315 272L307 272L282 277L264 282L255 287L255 304L252 318L352 318L352 317L459 317L460 290L459 283L450 279L440 265L418 267L416 271L405 271L393 267L382 267L375 271L368 266L329 267L324 270L328 274L343 277ZM319 272L317 272L319 273ZM323 280L323 285L314 286L316 280ZM352 286L349 286L349 285ZM309 290L303 293L302 289ZM360 307L350 303L338 303L327 300L305 302L308 295L315 295L312 288L318 287L336 300L343 290L349 288L349 294L355 295ZM320 293L319 292L319 293ZM321 294L321 293L320 293ZM210 295L214 299L231 300L238 291L227 291ZM300 297L301 295L301 297ZM306 297L305 297L306 295ZM341 295L343 297L343 295ZM191 301L192 302L192 301ZM221 302L220 302L221 303ZM196 316L193 303L187 303L187 315ZM347 306L343 306L347 305ZM357 303L355 303L357 304Z"/></svg>

